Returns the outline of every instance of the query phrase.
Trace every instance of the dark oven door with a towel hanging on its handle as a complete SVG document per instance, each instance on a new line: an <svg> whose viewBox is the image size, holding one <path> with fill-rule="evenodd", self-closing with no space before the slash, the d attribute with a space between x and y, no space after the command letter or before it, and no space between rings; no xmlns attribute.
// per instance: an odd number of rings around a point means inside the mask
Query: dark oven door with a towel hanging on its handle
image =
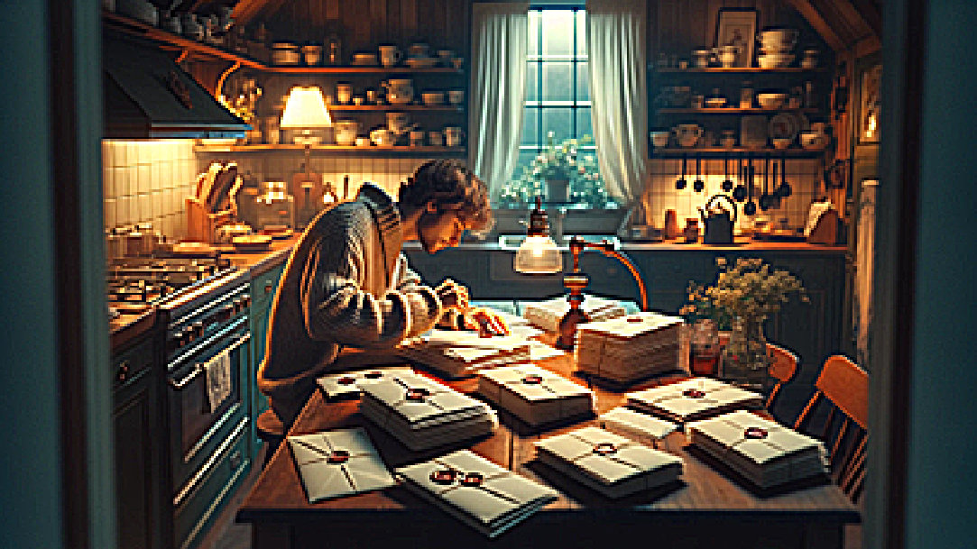
<svg viewBox="0 0 977 549"><path fill-rule="evenodd" d="M173 488L180 490L207 463L212 454L247 422L248 317L237 317L213 335L200 341L179 363L171 364L167 392L170 424L170 463ZM211 369L207 363L226 353L230 372ZM224 379L230 393L211 406L208 375L230 375ZM228 383L229 382L229 383Z"/></svg>

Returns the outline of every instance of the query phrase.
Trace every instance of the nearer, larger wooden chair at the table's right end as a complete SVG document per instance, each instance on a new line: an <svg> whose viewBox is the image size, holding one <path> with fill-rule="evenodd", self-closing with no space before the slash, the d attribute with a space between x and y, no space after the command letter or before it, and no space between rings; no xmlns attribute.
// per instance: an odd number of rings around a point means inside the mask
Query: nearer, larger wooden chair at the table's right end
<svg viewBox="0 0 977 549"><path fill-rule="evenodd" d="M850 359L835 355L825 360L815 387L794 429L813 434L812 418L820 420L824 415L815 410L819 404L828 405L820 438L830 452L831 478L857 503L865 484L869 374Z"/></svg>

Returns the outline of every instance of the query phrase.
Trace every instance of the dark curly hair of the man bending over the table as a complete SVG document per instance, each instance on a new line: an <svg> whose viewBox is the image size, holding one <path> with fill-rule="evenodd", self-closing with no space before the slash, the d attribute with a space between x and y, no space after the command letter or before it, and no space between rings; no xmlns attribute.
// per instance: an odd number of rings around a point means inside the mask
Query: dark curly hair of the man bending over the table
<svg viewBox="0 0 977 549"><path fill-rule="evenodd" d="M440 210L457 210L458 218L472 231L487 231L492 225L485 182L458 160L428 160L421 164L401 184L400 201L415 207L434 201Z"/></svg>

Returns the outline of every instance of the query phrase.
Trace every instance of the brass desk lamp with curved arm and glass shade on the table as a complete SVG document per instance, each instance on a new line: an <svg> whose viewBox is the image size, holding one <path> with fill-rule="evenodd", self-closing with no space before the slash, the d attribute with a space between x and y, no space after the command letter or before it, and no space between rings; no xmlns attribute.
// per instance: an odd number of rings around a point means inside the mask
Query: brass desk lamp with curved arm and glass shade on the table
<svg viewBox="0 0 977 549"><path fill-rule="evenodd" d="M580 272L580 253L585 248L598 250L621 262L638 284L641 310L648 311L648 293L645 290L645 282L642 280L641 274L638 273L637 267L627 256L615 249L613 242L610 240L588 242L579 236L573 236L570 239L569 246L570 253L573 256L573 271L564 274L563 285L570 290L570 295L567 296L567 301L570 302L570 310L560 318L560 337L556 341L556 347L565 351L573 350L573 338L576 335L577 324L590 321L590 317L580 309L580 305L583 303L583 289L587 287L587 283L590 281L586 274ZM530 214L530 226L527 230L526 240L516 252L513 269L517 273L523 274L554 274L563 269L560 251L549 237L549 223L539 197L536 197L536 207Z"/></svg>

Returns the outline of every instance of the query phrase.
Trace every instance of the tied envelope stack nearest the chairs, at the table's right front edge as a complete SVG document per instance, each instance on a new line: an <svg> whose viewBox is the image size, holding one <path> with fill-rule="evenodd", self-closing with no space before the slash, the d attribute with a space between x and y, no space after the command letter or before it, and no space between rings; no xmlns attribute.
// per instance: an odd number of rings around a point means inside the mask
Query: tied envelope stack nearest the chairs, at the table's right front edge
<svg viewBox="0 0 977 549"><path fill-rule="evenodd" d="M690 423L690 442L760 488L827 473L824 444L738 410Z"/></svg>

